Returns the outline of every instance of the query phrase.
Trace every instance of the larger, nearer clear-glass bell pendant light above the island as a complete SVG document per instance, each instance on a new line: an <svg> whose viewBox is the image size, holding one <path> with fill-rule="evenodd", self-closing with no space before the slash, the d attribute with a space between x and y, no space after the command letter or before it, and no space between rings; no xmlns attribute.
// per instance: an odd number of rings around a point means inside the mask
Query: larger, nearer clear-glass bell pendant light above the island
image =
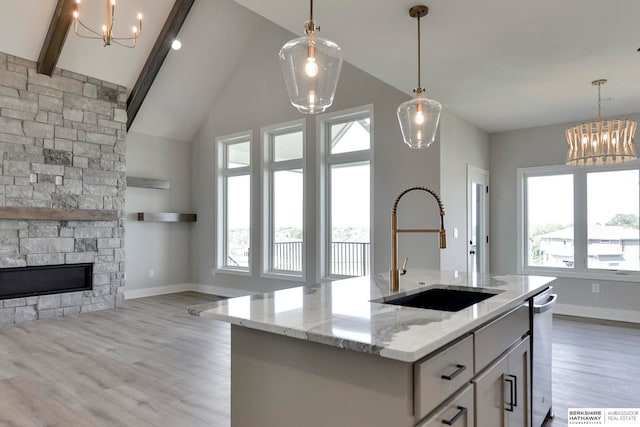
<svg viewBox="0 0 640 427"><path fill-rule="evenodd" d="M301 113L317 114L333 103L342 67L342 49L316 35L313 0L305 37L290 40L280 49L280 66L291 104Z"/></svg>

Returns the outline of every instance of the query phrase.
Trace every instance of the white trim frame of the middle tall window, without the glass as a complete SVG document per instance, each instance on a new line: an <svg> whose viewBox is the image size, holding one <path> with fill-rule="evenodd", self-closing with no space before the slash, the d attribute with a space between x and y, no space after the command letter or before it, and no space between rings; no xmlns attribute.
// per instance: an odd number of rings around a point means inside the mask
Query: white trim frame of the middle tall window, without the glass
<svg viewBox="0 0 640 427"><path fill-rule="evenodd" d="M285 160L280 162L271 162L273 147L271 137L274 134L288 133L287 131L302 131L302 158L294 160ZM261 177L262 177L262 197L261 212L262 217L262 251L261 251L261 268L260 277L270 279L306 281L307 277L307 237L309 215L306 212L307 206L307 180L308 173L306 170L307 158L307 121L305 119L294 120L290 122L280 123L271 126L265 126L260 129L262 135L262 143L260 144L260 158L262 159ZM273 259L273 185L271 182L272 172L278 170L302 169L303 172L303 194L302 194L302 272L271 270L271 260ZM266 215L265 215L266 213Z"/></svg>

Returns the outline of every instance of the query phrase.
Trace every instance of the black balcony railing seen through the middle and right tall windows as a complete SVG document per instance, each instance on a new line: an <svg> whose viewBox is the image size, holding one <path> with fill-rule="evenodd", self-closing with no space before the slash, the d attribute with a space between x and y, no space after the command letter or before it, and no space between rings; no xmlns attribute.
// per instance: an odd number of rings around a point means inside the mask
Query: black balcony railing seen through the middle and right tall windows
<svg viewBox="0 0 640 427"><path fill-rule="evenodd" d="M331 243L331 275L364 276L369 274L370 244L363 242ZM273 269L302 271L302 242L274 244Z"/></svg>

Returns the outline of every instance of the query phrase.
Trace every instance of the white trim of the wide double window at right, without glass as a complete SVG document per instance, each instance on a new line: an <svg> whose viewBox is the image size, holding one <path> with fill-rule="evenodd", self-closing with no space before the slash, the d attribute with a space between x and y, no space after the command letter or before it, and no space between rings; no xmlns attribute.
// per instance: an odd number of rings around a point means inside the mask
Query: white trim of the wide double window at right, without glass
<svg viewBox="0 0 640 427"><path fill-rule="evenodd" d="M606 172L619 170L639 170L637 162L625 163L614 166L578 167L567 165L538 166L518 168L517 187L517 272L518 274L535 274L540 276L555 276L573 279L610 280L620 282L637 282L640 280L640 271L627 270L603 270L587 267L587 240L586 235L578 233L578 230L586 230L587 227L587 191L586 176L589 172ZM527 224L526 212L526 178L528 176L548 176L571 174L574 179L574 268L562 269L553 267L536 267L527 265L527 251L525 251L524 237Z"/></svg>

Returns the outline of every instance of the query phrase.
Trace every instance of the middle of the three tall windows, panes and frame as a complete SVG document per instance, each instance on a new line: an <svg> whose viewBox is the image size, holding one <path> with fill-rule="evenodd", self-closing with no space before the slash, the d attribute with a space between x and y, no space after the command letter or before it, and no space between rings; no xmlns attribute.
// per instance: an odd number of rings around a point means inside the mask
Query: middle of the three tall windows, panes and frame
<svg viewBox="0 0 640 427"><path fill-rule="evenodd" d="M304 122L263 131L264 271L304 275Z"/></svg>

